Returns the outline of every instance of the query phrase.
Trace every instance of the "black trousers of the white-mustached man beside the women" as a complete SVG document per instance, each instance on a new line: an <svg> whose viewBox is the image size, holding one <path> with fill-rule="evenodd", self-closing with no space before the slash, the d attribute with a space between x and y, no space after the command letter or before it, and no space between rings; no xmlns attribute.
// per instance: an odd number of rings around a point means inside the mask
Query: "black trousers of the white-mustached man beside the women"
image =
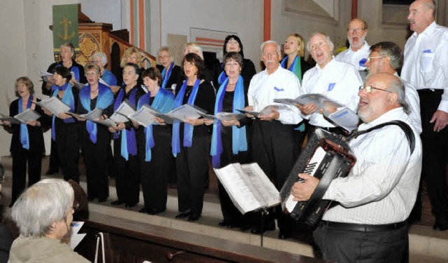
<svg viewBox="0 0 448 263"><path fill-rule="evenodd" d="M260 121L253 123L251 138L251 161L258 163L263 172L281 189L300 153L298 136L293 125L280 121ZM279 229L290 231L293 221L285 215L280 206L275 208ZM273 224L274 217L265 217L265 225Z"/></svg>

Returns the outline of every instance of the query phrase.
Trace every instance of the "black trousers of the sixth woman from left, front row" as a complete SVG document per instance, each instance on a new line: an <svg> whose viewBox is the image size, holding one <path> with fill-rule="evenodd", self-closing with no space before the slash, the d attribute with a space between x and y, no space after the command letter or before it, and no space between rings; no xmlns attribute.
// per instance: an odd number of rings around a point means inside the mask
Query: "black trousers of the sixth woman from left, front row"
<svg viewBox="0 0 448 263"><path fill-rule="evenodd" d="M209 156L208 135L193 135L191 147L181 146L176 156L179 212L190 210L194 215L202 214L204 193L209 184Z"/></svg>

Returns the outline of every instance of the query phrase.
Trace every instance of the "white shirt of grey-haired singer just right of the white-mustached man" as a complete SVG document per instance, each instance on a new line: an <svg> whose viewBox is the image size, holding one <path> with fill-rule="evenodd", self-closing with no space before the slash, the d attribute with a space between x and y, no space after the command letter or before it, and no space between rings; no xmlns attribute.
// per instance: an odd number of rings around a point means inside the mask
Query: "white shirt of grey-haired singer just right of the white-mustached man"
<svg viewBox="0 0 448 263"><path fill-rule="evenodd" d="M305 72L302 80L302 93L323 94L356 112L359 102L359 86L361 85L363 82L358 71L352 65L332 59L323 69L316 65ZM318 112L302 117L309 119L309 123L314 126L335 127Z"/></svg>

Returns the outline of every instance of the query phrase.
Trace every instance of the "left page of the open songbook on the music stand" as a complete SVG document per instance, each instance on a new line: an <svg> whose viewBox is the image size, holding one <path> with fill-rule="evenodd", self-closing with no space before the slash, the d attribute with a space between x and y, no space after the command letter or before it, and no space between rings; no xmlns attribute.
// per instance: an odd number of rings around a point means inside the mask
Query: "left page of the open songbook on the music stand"
<svg viewBox="0 0 448 263"><path fill-rule="evenodd" d="M262 208L262 204L258 202L253 194L254 190L251 187L251 180L244 174L244 170L239 163L231 163L228 166L214 170L239 212L245 214Z"/></svg>

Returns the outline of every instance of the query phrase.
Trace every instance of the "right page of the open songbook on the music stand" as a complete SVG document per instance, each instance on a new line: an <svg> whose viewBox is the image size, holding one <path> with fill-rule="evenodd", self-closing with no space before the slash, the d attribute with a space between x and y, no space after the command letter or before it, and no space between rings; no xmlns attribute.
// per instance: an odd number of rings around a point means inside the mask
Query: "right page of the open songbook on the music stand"
<svg viewBox="0 0 448 263"><path fill-rule="evenodd" d="M258 163L243 164L241 168L246 173L248 179L251 180L253 191L258 192L258 195L256 195L258 202L265 203L267 207L280 203L279 190L276 189L271 180L263 173Z"/></svg>

